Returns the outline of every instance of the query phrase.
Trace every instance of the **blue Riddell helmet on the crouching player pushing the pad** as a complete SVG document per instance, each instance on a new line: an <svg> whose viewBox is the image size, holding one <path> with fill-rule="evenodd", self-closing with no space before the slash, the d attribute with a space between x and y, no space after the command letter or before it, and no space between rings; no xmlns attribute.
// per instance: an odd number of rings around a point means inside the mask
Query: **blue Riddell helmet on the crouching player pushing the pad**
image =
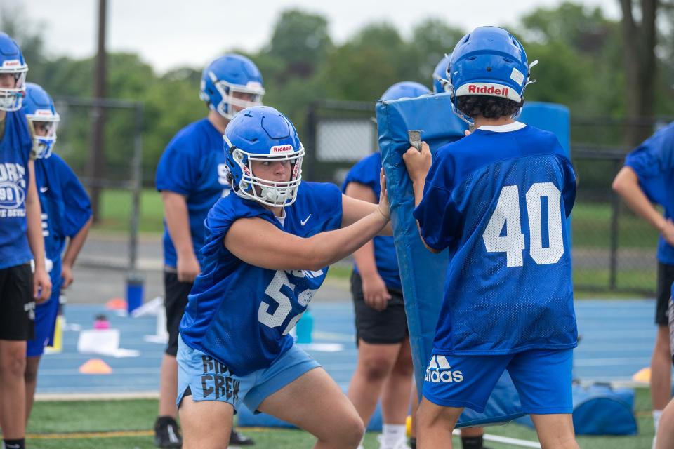
<svg viewBox="0 0 674 449"><path fill-rule="evenodd" d="M253 106L239 112L225 128L225 159L232 190L267 206L290 206L302 182L304 147L293 123L273 107ZM290 180L257 177L253 161L289 161Z"/></svg>

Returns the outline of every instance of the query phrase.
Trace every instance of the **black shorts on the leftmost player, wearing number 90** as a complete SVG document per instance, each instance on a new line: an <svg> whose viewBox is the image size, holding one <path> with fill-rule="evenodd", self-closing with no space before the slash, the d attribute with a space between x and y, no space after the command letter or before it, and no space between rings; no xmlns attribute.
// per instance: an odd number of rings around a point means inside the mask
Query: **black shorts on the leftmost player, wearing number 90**
<svg viewBox="0 0 674 449"><path fill-rule="evenodd" d="M32 340L34 330L30 264L0 269L0 340Z"/></svg>

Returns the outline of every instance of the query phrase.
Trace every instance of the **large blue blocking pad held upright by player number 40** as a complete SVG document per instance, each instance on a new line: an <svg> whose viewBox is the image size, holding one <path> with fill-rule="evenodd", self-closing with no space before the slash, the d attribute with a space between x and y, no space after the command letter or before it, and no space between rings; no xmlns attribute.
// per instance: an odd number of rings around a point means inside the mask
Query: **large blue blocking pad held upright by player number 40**
<svg viewBox="0 0 674 449"><path fill-rule="evenodd" d="M424 95L376 106L379 149L386 173L391 206L393 236L405 297L410 344L414 359L417 391L421 391L426 364L430 358L435 326L444 296L444 277L449 254L430 253L421 242L412 216L414 192L402 154L409 149L408 130L419 130L421 140L435 151L447 142L463 138L468 125L451 112L449 93ZM530 103L524 106L520 121L550 130L569 149L569 110L561 105ZM517 391L504 373L489 398L484 413L465 409L457 427L498 424L524 415Z"/></svg>

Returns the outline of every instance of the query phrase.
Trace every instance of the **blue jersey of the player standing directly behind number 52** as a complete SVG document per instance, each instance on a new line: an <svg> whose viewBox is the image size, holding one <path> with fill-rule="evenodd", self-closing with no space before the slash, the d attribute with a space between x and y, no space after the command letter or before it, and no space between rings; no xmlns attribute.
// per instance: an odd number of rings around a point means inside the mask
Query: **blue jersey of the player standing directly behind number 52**
<svg viewBox="0 0 674 449"><path fill-rule="evenodd" d="M208 119L201 119L178 131L169 142L157 166L157 190L184 195L190 215L192 245L199 264L199 248L204 245L204 219L213 204L230 192L223 152L223 135ZM164 221L164 264L176 267L176 248Z"/></svg>

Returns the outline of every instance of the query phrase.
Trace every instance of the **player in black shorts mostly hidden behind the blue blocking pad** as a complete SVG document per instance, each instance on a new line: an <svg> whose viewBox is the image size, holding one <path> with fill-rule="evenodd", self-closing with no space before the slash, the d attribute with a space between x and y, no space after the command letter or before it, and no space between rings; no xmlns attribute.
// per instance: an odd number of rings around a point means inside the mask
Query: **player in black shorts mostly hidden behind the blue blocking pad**
<svg viewBox="0 0 674 449"><path fill-rule="evenodd" d="M430 93L413 81L390 86L382 100ZM359 161L346 175L342 190L355 199L379 201L381 153ZM412 382L412 355L400 272L392 236L376 236L353 253L351 293L355 310L358 364L348 396L364 422L369 422L381 396L383 427L380 449L407 448L405 420Z"/></svg>

